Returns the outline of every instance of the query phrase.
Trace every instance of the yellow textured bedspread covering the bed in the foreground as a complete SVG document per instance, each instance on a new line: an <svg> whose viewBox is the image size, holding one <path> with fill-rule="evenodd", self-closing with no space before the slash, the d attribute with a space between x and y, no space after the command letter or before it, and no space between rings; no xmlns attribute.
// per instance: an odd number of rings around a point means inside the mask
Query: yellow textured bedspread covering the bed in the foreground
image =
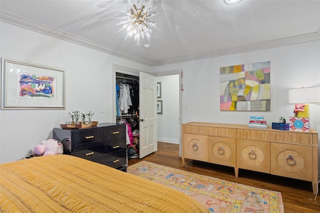
<svg viewBox="0 0 320 213"><path fill-rule="evenodd" d="M0 212L203 213L187 195L69 155L0 165Z"/></svg>

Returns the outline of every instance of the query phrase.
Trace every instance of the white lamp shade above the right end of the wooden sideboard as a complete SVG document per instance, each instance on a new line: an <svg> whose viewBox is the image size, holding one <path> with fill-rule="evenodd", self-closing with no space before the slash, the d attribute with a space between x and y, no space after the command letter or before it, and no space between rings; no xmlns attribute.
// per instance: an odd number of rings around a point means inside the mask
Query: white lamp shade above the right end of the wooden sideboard
<svg viewBox="0 0 320 213"><path fill-rule="evenodd" d="M320 87L302 87L288 90L289 104L320 102Z"/></svg>

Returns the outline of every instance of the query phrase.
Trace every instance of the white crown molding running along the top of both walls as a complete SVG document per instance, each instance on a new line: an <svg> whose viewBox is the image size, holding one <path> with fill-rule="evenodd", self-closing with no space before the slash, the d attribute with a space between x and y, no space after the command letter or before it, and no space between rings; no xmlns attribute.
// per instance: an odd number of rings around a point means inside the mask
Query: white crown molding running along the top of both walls
<svg viewBox="0 0 320 213"><path fill-rule="evenodd" d="M141 58L138 58L132 54L128 54L126 52L120 51L118 49L112 48L110 46L94 42L89 39L82 38L80 36L76 36L74 34L23 18L21 16L0 10L0 21L10 23L19 27L23 27L32 31L36 31L39 33L43 33L55 38L59 38L65 41L69 41L75 44L79 44L85 47L89 47L101 52L105 52L114 56L118 56L127 60L131 60L137 63L141 63L147 66L159 66L164 64L171 64L171 63L179 63L179 62L185 62L190 60L198 60L203 58L210 58L210 57L216 57L216 56L222 56L222 55L229 55L229 54L235 54L235 53L241 53L241 52L248 52L248 51L254 51L254 50L261 50L261 49L267 49L267 48L273 48L273 47L279 47L279 46L286 46L286 45L292 45L292 44L298 44L298 43L304 43L309 41L315 41L320 40L320 28L316 32L307 33L303 35L297 35L292 37L286 37L286 38L280 38L280 39L274 39L269 41L263 41L263 42L257 42L247 45L241 45L236 46L233 48L228 49L221 49L213 52L206 52L203 54L198 55L190 55L186 57L177 57L177 58L171 58L169 60L154 60L154 61L147 61Z"/></svg>

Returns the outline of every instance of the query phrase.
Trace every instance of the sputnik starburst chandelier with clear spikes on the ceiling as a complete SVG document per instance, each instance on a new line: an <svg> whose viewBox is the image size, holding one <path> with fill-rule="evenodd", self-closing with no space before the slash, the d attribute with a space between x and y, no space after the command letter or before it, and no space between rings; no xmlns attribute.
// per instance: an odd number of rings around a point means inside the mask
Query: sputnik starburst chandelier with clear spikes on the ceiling
<svg viewBox="0 0 320 213"><path fill-rule="evenodd" d="M140 38L146 37L151 44L150 35L152 34L154 37L152 30L150 27L153 27L159 30L156 27L156 23L154 19L151 19L151 16L159 14L159 12L154 12L156 6L151 7L151 0L134 0L132 3L131 0L128 0L128 4L125 5L125 9L120 9L120 11L124 12L126 16L122 17L114 17L117 19L122 19L116 25L122 25L122 27L116 31L126 30L123 35L124 41L134 36L134 41L136 41L136 45L140 45ZM161 30L159 30L161 31Z"/></svg>

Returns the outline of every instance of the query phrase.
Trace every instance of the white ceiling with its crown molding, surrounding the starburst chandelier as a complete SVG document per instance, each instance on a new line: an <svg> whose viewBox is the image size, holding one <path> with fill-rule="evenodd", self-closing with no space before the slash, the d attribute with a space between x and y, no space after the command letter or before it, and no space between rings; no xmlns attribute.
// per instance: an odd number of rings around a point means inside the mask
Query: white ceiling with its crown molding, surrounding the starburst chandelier
<svg viewBox="0 0 320 213"><path fill-rule="evenodd" d="M0 0L0 20L149 66L320 39L320 0L152 0L147 49L116 33L120 1Z"/></svg>

